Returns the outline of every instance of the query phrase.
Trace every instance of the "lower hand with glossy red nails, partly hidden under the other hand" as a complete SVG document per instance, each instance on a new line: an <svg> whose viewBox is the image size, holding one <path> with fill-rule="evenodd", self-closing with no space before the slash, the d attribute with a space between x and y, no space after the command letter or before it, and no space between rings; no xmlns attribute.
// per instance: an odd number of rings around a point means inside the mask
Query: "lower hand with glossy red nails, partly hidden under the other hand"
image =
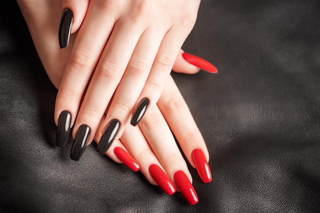
<svg viewBox="0 0 320 213"><path fill-rule="evenodd" d="M49 0L38 1L36 7L25 5L21 1L18 3L28 23L45 70L54 85L58 87L63 75L63 67L71 54L68 51L70 49L63 50L61 54L56 48L58 41L54 35L57 21L54 17L57 17L56 8L59 7ZM42 12L33 13L33 9L39 7L42 8ZM41 27L44 23L47 26L46 29ZM75 36L74 34L71 38L71 46ZM180 54L176 60L175 68L180 72L185 70L188 73L196 73L199 70L199 68L187 63ZM180 113L176 113L177 111ZM129 125L123 136L112 144L106 154L117 162L125 162L134 171L141 167L142 173L150 183L159 184L168 194L173 194L177 188L190 204L195 204L197 196L191 184L192 177L168 125L190 164L197 167L203 182L210 182L208 150L188 106L171 77L167 80L157 106L144 117L139 128ZM103 126L98 128L95 135L96 141L99 141L101 137L102 131L99 130L102 128Z"/></svg>

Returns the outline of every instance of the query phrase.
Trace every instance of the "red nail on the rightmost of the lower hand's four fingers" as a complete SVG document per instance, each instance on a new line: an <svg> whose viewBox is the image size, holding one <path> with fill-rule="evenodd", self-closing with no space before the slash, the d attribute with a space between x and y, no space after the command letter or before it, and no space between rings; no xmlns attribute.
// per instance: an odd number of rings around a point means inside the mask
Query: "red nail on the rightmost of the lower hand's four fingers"
<svg viewBox="0 0 320 213"><path fill-rule="evenodd" d="M192 160L196 165L196 170L204 183L209 183L212 180L211 171L207 159L201 149L192 151Z"/></svg>

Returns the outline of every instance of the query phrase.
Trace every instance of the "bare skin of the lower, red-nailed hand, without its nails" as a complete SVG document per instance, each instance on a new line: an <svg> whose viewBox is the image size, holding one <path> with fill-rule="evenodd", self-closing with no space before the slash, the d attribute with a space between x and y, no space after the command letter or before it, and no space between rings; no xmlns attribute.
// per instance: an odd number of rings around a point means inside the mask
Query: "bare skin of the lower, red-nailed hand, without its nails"
<svg viewBox="0 0 320 213"><path fill-rule="evenodd" d="M60 50L57 30L61 16L61 3L50 0L18 0L17 2L25 17L41 62L50 80L60 92L65 72L67 72L66 66L73 56L75 40L80 31L72 34L68 48ZM178 51L177 57L175 57L174 70L189 74L198 72L199 68L187 63L181 53L182 50ZM76 78L77 75L74 75ZM88 83L90 88L92 82ZM67 103L74 104L73 102ZM100 140L105 129L105 122L109 115L109 111L106 109L107 106L103 108L103 113L96 127L97 131L93 134L95 141ZM179 113L176 113L177 111ZM80 112L78 116L80 116ZM187 163L182 157L170 129L192 167L195 167L191 158L194 149L201 149L209 160L209 153L203 137L170 75L164 82L164 89L159 94L158 102L144 116L139 126L123 126L122 136L113 142L106 154L112 160L121 163L121 160L113 153L113 149L122 147L138 161L141 172L152 184L157 184L148 172L149 165L153 163L159 165L173 183L173 175L178 170L184 171L192 182Z"/></svg>

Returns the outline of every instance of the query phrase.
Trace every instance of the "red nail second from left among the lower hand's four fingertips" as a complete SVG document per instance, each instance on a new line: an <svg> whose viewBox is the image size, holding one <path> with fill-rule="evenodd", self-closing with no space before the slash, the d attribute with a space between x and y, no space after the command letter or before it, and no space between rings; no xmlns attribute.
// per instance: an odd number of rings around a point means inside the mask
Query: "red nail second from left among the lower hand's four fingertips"
<svg viewBox="0 0 320 213"><path fill-rule="evenodd" d="M176 189L168 177L168 175L156 164L149 166L149 173L153 180L165 191L168 195L172 195L176 192Z"/></svg>

